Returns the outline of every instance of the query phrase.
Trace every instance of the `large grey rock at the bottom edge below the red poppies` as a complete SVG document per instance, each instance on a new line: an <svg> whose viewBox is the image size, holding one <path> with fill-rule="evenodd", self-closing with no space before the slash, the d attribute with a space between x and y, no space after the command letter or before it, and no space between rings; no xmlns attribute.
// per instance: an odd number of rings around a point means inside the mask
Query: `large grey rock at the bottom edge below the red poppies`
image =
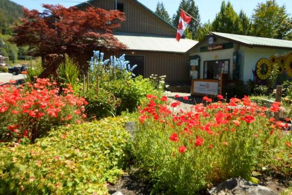
<svg viewBox="0 0 292 195"><path fill-rule="evenodd" d="M241 178L228 179L209 190L209 193L210 195L276 195L267 187Z"/></svg>

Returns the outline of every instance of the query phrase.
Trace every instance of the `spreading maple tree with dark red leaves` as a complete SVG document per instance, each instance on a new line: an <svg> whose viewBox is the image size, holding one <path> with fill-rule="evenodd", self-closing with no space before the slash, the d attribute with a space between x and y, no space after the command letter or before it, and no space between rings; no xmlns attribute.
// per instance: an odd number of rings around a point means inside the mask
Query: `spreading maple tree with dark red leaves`
<svg viewBox="0 0 292 195"><path fill-rule="evenodd" d="M91 54L92 50L127 48L112 34L125 20L123 12L50 4L43 7L45 10L41 13L24 8L24 19L15 26L12 38L18 46L30 46L34 56L64 53L77 56Z"/></svg>

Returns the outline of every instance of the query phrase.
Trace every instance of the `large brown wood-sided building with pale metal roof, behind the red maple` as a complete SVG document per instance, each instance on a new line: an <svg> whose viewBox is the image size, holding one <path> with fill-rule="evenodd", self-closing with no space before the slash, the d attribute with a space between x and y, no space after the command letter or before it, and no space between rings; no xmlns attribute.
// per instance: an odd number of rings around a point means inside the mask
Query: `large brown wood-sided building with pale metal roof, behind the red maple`
<svg viewBox="0 0 292 195"><path fill-rule="evenodd" d="M134 74L149 77L166 75L166 81L189 82L190 48L198 43L191 39L176 41L177 28L166 22L138 0L88 0L76 5L105 10L117 9L126 15L126 21L116 29L114 36L128 46L116 56L126 54L126 60L137 64ZM111 55L111 54L108 54ZM108 56L106 54L106 56ZM88 59L85 59L85 62Z"/></svg>

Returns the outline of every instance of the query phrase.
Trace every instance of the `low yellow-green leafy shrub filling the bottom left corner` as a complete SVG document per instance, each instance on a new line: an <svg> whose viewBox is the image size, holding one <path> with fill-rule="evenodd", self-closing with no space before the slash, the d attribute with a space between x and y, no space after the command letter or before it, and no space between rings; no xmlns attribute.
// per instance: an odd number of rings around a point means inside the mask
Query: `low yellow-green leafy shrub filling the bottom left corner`
<svg viewBox="0 0 292 195"><path fill-rule="evenodd" d="M60 127L32 145L0 148L1 195L108 195L130 138L123 118Z"/></svg>

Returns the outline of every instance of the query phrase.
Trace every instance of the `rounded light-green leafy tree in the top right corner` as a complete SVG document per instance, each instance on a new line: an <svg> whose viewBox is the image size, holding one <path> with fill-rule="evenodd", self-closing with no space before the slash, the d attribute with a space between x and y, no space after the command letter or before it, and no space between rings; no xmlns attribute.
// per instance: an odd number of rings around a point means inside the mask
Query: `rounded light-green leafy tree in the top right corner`
<svg viewBox="0 0 292 195"><path fill-rule="evenodd" d="M258 3L252 16L253 34L259 37L283 39L292 32L292 20L286 7L275 0Z"/></svg>

